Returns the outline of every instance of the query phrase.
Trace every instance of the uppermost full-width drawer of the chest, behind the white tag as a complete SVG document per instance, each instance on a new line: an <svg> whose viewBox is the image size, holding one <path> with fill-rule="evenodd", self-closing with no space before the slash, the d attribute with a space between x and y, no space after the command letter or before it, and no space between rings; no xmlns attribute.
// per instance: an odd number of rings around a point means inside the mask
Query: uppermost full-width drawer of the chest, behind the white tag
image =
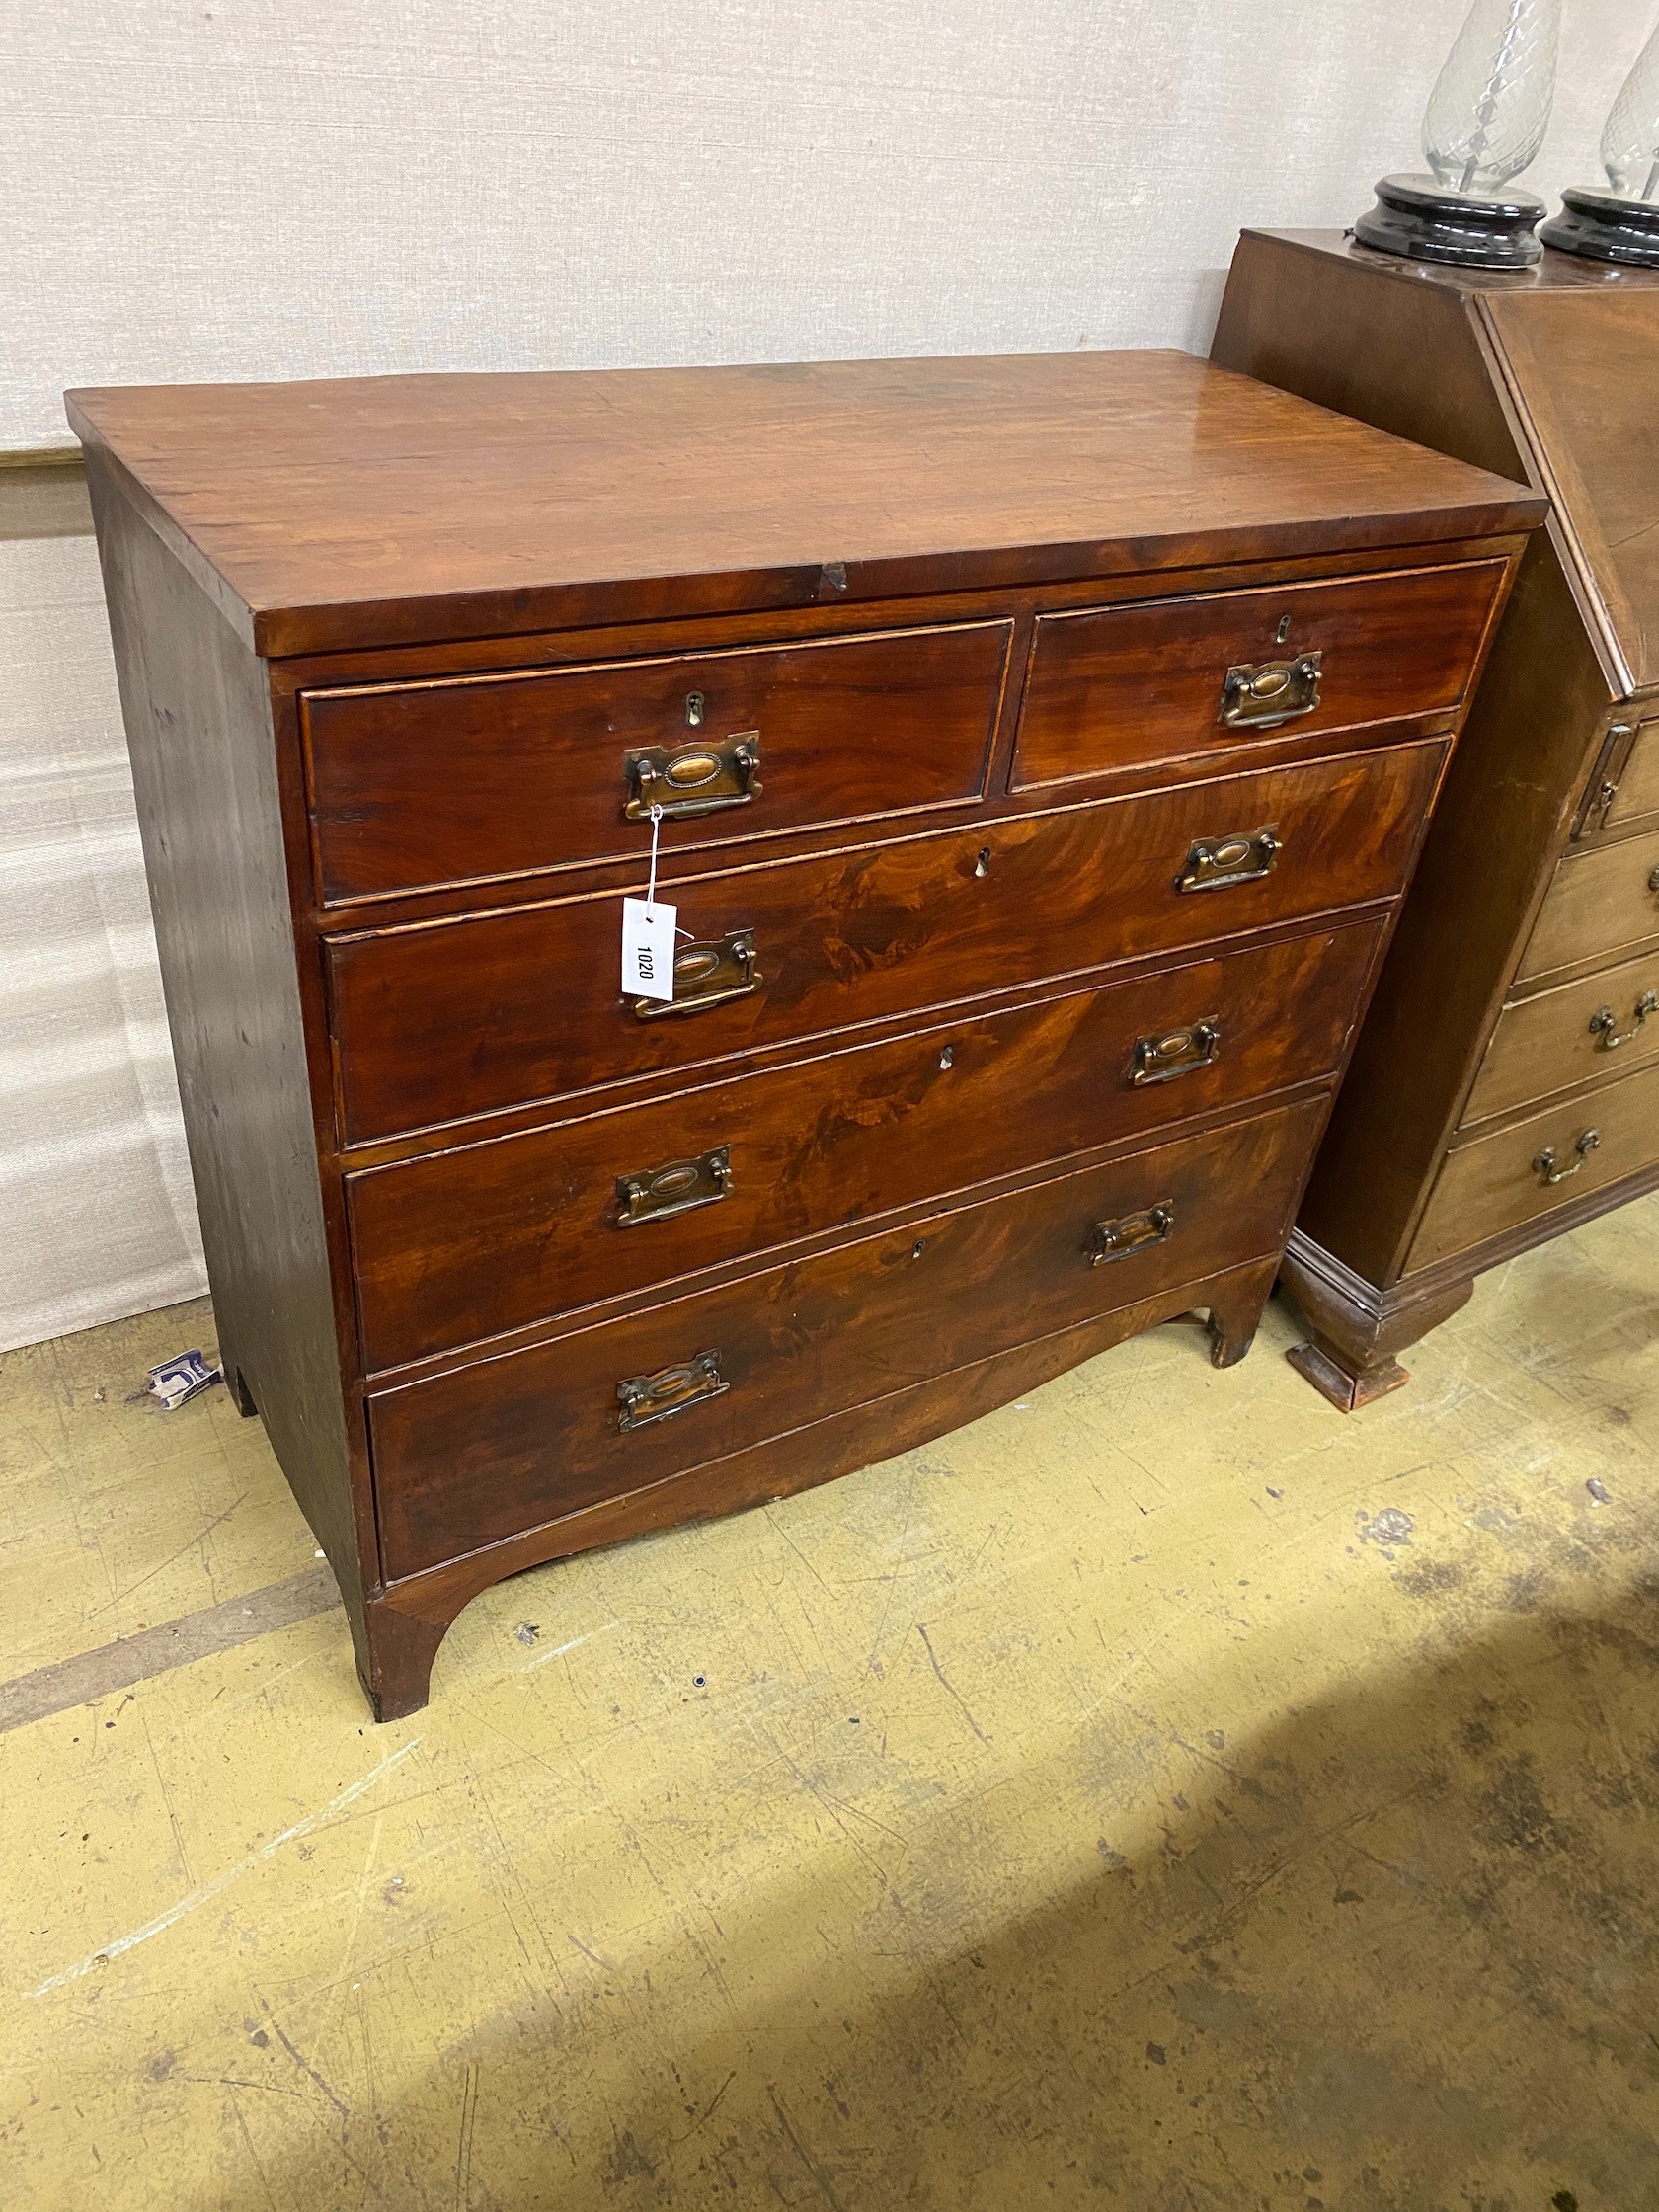
<svg viewBox="0 0 1659 2212"><path fill-rule="evenodd" d="M672 1011L619 894L325 945L347 1144L1391 898L1447 741L688 876ZM644 1006L644 1011L639 1011Z"/></svg>

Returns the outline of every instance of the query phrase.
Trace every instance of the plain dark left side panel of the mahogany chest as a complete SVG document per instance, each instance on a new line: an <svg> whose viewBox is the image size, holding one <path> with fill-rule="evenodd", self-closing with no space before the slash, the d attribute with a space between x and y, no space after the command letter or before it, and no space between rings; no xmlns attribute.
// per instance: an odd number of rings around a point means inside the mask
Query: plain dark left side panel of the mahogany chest
<svg viewBox="0 0 1659 2212"><path fill-rule="evenodd" d="M228 1380L361 1626L374 1522L352 1484L265 670L97 456L88 482Z"/></svg>

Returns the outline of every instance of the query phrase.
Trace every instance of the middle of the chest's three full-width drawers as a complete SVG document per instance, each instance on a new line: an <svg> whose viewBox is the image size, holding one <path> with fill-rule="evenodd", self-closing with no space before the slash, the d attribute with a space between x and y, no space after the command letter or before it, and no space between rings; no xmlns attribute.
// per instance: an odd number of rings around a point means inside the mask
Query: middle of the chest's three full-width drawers
<svg viewBox="0 0 1659 2212"><path fill-rule="evenodd" d="M365 1360L394 1367L1332 1075L1380 929L352 1175Z"/></svg>

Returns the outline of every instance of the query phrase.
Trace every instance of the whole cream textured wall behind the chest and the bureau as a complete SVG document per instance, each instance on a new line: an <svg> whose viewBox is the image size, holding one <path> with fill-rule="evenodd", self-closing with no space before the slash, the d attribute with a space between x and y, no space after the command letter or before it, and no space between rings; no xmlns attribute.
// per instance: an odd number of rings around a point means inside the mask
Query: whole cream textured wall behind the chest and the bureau
<svg viewBox="0 0 1659 2212"><path fill-rule="evenodd" d="M1464 0L7 0L0 447L71 383L1203 349ZM1544 192L1652 0L1568 0ZM0 1345L201 1285L88 540L0 546Z"/></svg>

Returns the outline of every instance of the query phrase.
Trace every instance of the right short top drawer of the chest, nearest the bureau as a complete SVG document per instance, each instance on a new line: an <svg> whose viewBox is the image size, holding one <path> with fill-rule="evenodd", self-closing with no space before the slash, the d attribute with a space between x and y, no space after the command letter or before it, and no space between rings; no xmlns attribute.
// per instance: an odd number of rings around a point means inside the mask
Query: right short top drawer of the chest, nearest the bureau
<svg viewBox="0 0 1659 2212"><path fill-rule="evenodd" d="M1451 717L1502 582L1471 562L1042 615L1013 785Z"/></svg>

